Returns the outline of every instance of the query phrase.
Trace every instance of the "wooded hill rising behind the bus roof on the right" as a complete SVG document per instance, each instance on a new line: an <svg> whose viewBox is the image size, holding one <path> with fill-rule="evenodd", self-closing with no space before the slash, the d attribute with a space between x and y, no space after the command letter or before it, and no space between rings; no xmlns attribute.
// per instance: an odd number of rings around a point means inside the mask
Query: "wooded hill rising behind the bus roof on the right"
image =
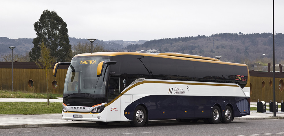
<svg viewBox="0 0 284 136"><path fill-rule="evenodd" d="M222 56L221 61L236 63L262 62L272 60L273 56L272 33L220 33L211 36L191 36L150 40L144 44L131 44L129 51L159 49L160 52L177 52L206 57ZM275 58L283 61L284 34L275 35ZM272 61L271 61L272 62Z"/></svg>

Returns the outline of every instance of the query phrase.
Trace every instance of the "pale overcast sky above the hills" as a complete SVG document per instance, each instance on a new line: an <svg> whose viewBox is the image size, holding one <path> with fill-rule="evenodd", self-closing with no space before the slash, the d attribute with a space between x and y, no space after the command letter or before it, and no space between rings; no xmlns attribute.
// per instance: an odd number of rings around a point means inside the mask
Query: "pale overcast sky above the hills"
<svg viewBox="0 0 284 136"><path fill-rule="evenodd" d="M284 1L274 4L275 31L284 33ZM46 9L67 23L69 37L104 41L273 31L272 0L2 0L0 37L35 38Z"/></svg>

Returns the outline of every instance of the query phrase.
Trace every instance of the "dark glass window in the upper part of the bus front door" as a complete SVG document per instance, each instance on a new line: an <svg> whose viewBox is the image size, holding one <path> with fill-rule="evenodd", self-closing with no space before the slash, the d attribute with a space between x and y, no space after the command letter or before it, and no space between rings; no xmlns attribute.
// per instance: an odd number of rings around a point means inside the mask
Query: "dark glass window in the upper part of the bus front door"
<svg viewBox="0 0 284 136"><path fill-rule="evenodd" d="M111 75L108 85L108 102L116 98L120 94L120 77L118 75Z"/></svg>

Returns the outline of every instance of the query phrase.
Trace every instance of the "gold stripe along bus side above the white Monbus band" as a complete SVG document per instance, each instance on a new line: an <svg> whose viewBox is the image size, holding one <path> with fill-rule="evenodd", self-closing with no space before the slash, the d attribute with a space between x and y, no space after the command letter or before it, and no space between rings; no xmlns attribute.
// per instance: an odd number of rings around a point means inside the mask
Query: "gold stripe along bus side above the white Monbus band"
<svg viewBox="0 0 284 136"><path fill-rule="evenodd" d="M239 87L238 85L229 85L229 84L215 84L215 83L184 83L184 82L169 82L169 81L142 81L135 83L131 87L127 88L124 92L122 92L120 95L118 95L116 98L114 98L111 102L105 104L105 107L116 101L121 95L125 94L127 91L132 89L133 87L136 87L137 85L141 85L143 83L166 83L166 84L182 84L182 85L210 85L210 86L229 86L229 87Z"/></svg>

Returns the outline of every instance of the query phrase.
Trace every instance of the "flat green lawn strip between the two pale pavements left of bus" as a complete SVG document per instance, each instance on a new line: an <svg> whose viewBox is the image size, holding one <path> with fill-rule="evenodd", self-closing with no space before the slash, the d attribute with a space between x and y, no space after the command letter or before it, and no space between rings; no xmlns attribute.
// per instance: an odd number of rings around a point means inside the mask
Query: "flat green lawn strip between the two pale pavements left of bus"
<svg viewBox="0 0 284 136"><path fill-rule="evenodd" d="M62 103L6 103L0 102L0 114L62 113Z"/></svg>

